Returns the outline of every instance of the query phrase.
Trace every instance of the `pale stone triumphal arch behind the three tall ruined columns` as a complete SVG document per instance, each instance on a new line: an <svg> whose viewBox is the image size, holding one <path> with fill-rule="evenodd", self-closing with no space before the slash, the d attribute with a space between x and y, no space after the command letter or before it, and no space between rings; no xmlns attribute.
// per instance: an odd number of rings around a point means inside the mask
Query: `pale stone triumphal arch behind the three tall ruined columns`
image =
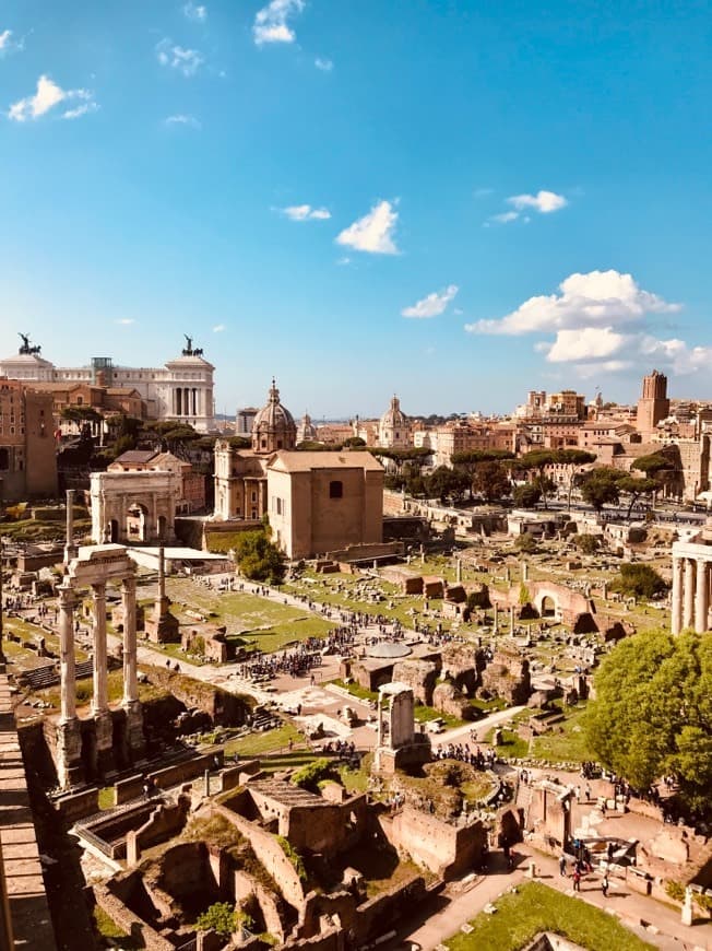
<svg viewBox="0 0 712 951"><path fill-rule="evenodd" d="M96 544L166 544L175 540L179 485L174 472L92 472Z"/></svg>

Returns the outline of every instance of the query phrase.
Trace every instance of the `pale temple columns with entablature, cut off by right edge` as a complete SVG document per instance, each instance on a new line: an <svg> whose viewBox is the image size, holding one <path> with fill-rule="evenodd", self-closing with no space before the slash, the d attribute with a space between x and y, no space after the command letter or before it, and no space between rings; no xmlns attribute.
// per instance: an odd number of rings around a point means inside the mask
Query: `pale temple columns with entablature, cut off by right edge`
<svg viewBox="0 0 712 951"><path fill-rule="evenodd" d="M712 520L685 541L673 545L673 634L691 627L710 630L712 587Z"/></svg>

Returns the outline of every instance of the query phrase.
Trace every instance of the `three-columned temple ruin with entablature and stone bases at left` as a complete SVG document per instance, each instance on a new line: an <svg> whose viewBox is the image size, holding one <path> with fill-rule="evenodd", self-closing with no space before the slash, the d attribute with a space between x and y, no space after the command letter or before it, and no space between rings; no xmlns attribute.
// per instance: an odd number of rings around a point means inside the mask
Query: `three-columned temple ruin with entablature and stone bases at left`
<svg viewBox="0 0 712 951"><path fill-rule="evenodd" d="M106 638L106 586L120 583L123 613L123 695L120 709L109 709ZM80 719L75 694L74 611L88 589L92 610L93 695L90 716ZM143 714L137 679L135 564L123 545L80 548L67 564L59 586L61 709L54 724L55 764L62 788L106 776L144 753Z"/></svg>

